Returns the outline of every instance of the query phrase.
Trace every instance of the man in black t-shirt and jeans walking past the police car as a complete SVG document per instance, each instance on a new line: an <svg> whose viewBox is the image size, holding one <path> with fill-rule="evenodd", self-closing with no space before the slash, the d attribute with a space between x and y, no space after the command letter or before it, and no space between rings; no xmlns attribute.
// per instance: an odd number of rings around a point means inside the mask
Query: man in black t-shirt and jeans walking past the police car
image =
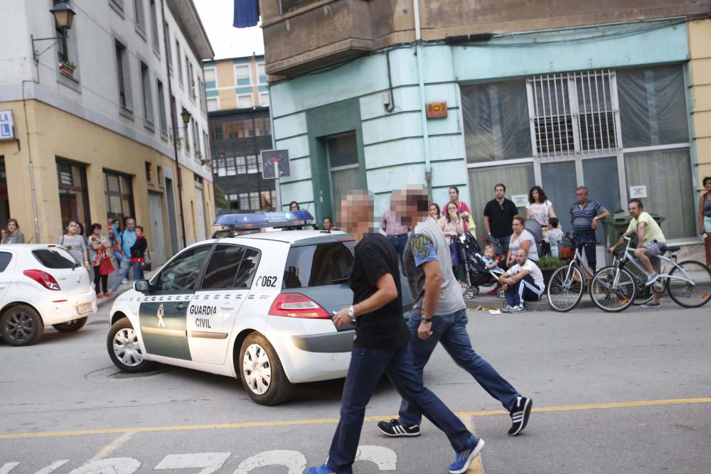
<svg viewBox="0 0 711 474"><path fill-rule="evenodd" d="M410 332L402 317L399 259L395 247L371 228L373 197L356 191L343 198L341 210L343 227L356 242L348 279L353 290L353 305L334 314L333 324L343 327L356 323L355 339L341 397L341 420L331 441L328 460L324 465L309 468L306 474L352 472L365 406L383 373L403 398L417 404L422 414L447 434L456 451L449 472L464 473L484 442L422 385L415 372L407 348Z"/></svg>

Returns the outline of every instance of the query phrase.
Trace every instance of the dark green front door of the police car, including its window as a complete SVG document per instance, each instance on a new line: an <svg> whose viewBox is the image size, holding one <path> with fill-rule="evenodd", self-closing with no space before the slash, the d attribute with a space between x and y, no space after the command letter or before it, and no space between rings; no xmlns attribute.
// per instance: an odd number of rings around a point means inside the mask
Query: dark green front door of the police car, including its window
<svg viewBox="0 0 711 474"><path fill-rule="evenodd" d="M213 245L185 250L154 279L154 290L141 296L141 337L150 355L191 360L186 314Z"/></svg>

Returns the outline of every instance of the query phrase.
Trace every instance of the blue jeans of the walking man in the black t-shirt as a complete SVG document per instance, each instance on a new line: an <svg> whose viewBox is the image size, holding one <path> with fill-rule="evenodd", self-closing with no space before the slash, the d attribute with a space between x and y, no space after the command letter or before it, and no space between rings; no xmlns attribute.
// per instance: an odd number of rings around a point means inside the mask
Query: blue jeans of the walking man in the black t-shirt
<svg viewBox="0 0 711 474"><path fill-rule="evenodd" d="M341 420L328 451L329 468L337 473L351 472L363 429L365 406L383 373L400 396L415 404L429 421L444 431L455 451L466 448L471 433L447 405L422 385L422 374L418 375L412 365L407 345L400 349L353 348L341 398Z"/></svg>

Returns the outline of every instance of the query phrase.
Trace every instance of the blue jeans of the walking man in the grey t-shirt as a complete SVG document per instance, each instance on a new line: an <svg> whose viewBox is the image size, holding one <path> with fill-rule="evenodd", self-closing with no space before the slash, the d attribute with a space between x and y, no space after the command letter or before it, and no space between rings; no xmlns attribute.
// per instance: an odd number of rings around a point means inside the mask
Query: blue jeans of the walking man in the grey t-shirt
<svg viewBox="0 0 711 474"><path fill-rule="evenodd" d="M498 375L498 372L481 357L474 352L469 340L469 333L466 332L466 309L456 311L456 313L445 316L434 316L432 318L432 335L427 339L417 337L420 316L414 314L410 316L409 326L412 339L410 340L410 352L412 360L415 362L417 380L422 383L422 370L432 355L432 351L437 343L442 343L444 350L454 359L456 365L469 372L474 377L481 388L486 393L497 399L504 408L513 408L516 397L520 395L518 391L506 382L506 379ZM402 399L400 405L400 423L405 426L417 425L422 421L422 413L419 407L410 403L407 399Z"/></svg>

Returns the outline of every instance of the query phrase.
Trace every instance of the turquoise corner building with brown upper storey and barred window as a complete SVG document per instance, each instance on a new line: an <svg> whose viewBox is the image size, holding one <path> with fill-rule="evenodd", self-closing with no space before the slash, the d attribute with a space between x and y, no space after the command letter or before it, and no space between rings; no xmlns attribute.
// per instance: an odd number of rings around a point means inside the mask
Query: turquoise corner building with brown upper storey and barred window
<svg viewBox="0 0 711 474"><path fill-rule="evenodd" d="M282 203L320 219L367 188L380 215L394 188L426 185L442 205L454 185L481 235L496 183L521 212L541 185L564 225L585 185L611 211L640 197L668 238L699 242L710 1L323 3L260 2L272 133L291 160Z"/></svg>

